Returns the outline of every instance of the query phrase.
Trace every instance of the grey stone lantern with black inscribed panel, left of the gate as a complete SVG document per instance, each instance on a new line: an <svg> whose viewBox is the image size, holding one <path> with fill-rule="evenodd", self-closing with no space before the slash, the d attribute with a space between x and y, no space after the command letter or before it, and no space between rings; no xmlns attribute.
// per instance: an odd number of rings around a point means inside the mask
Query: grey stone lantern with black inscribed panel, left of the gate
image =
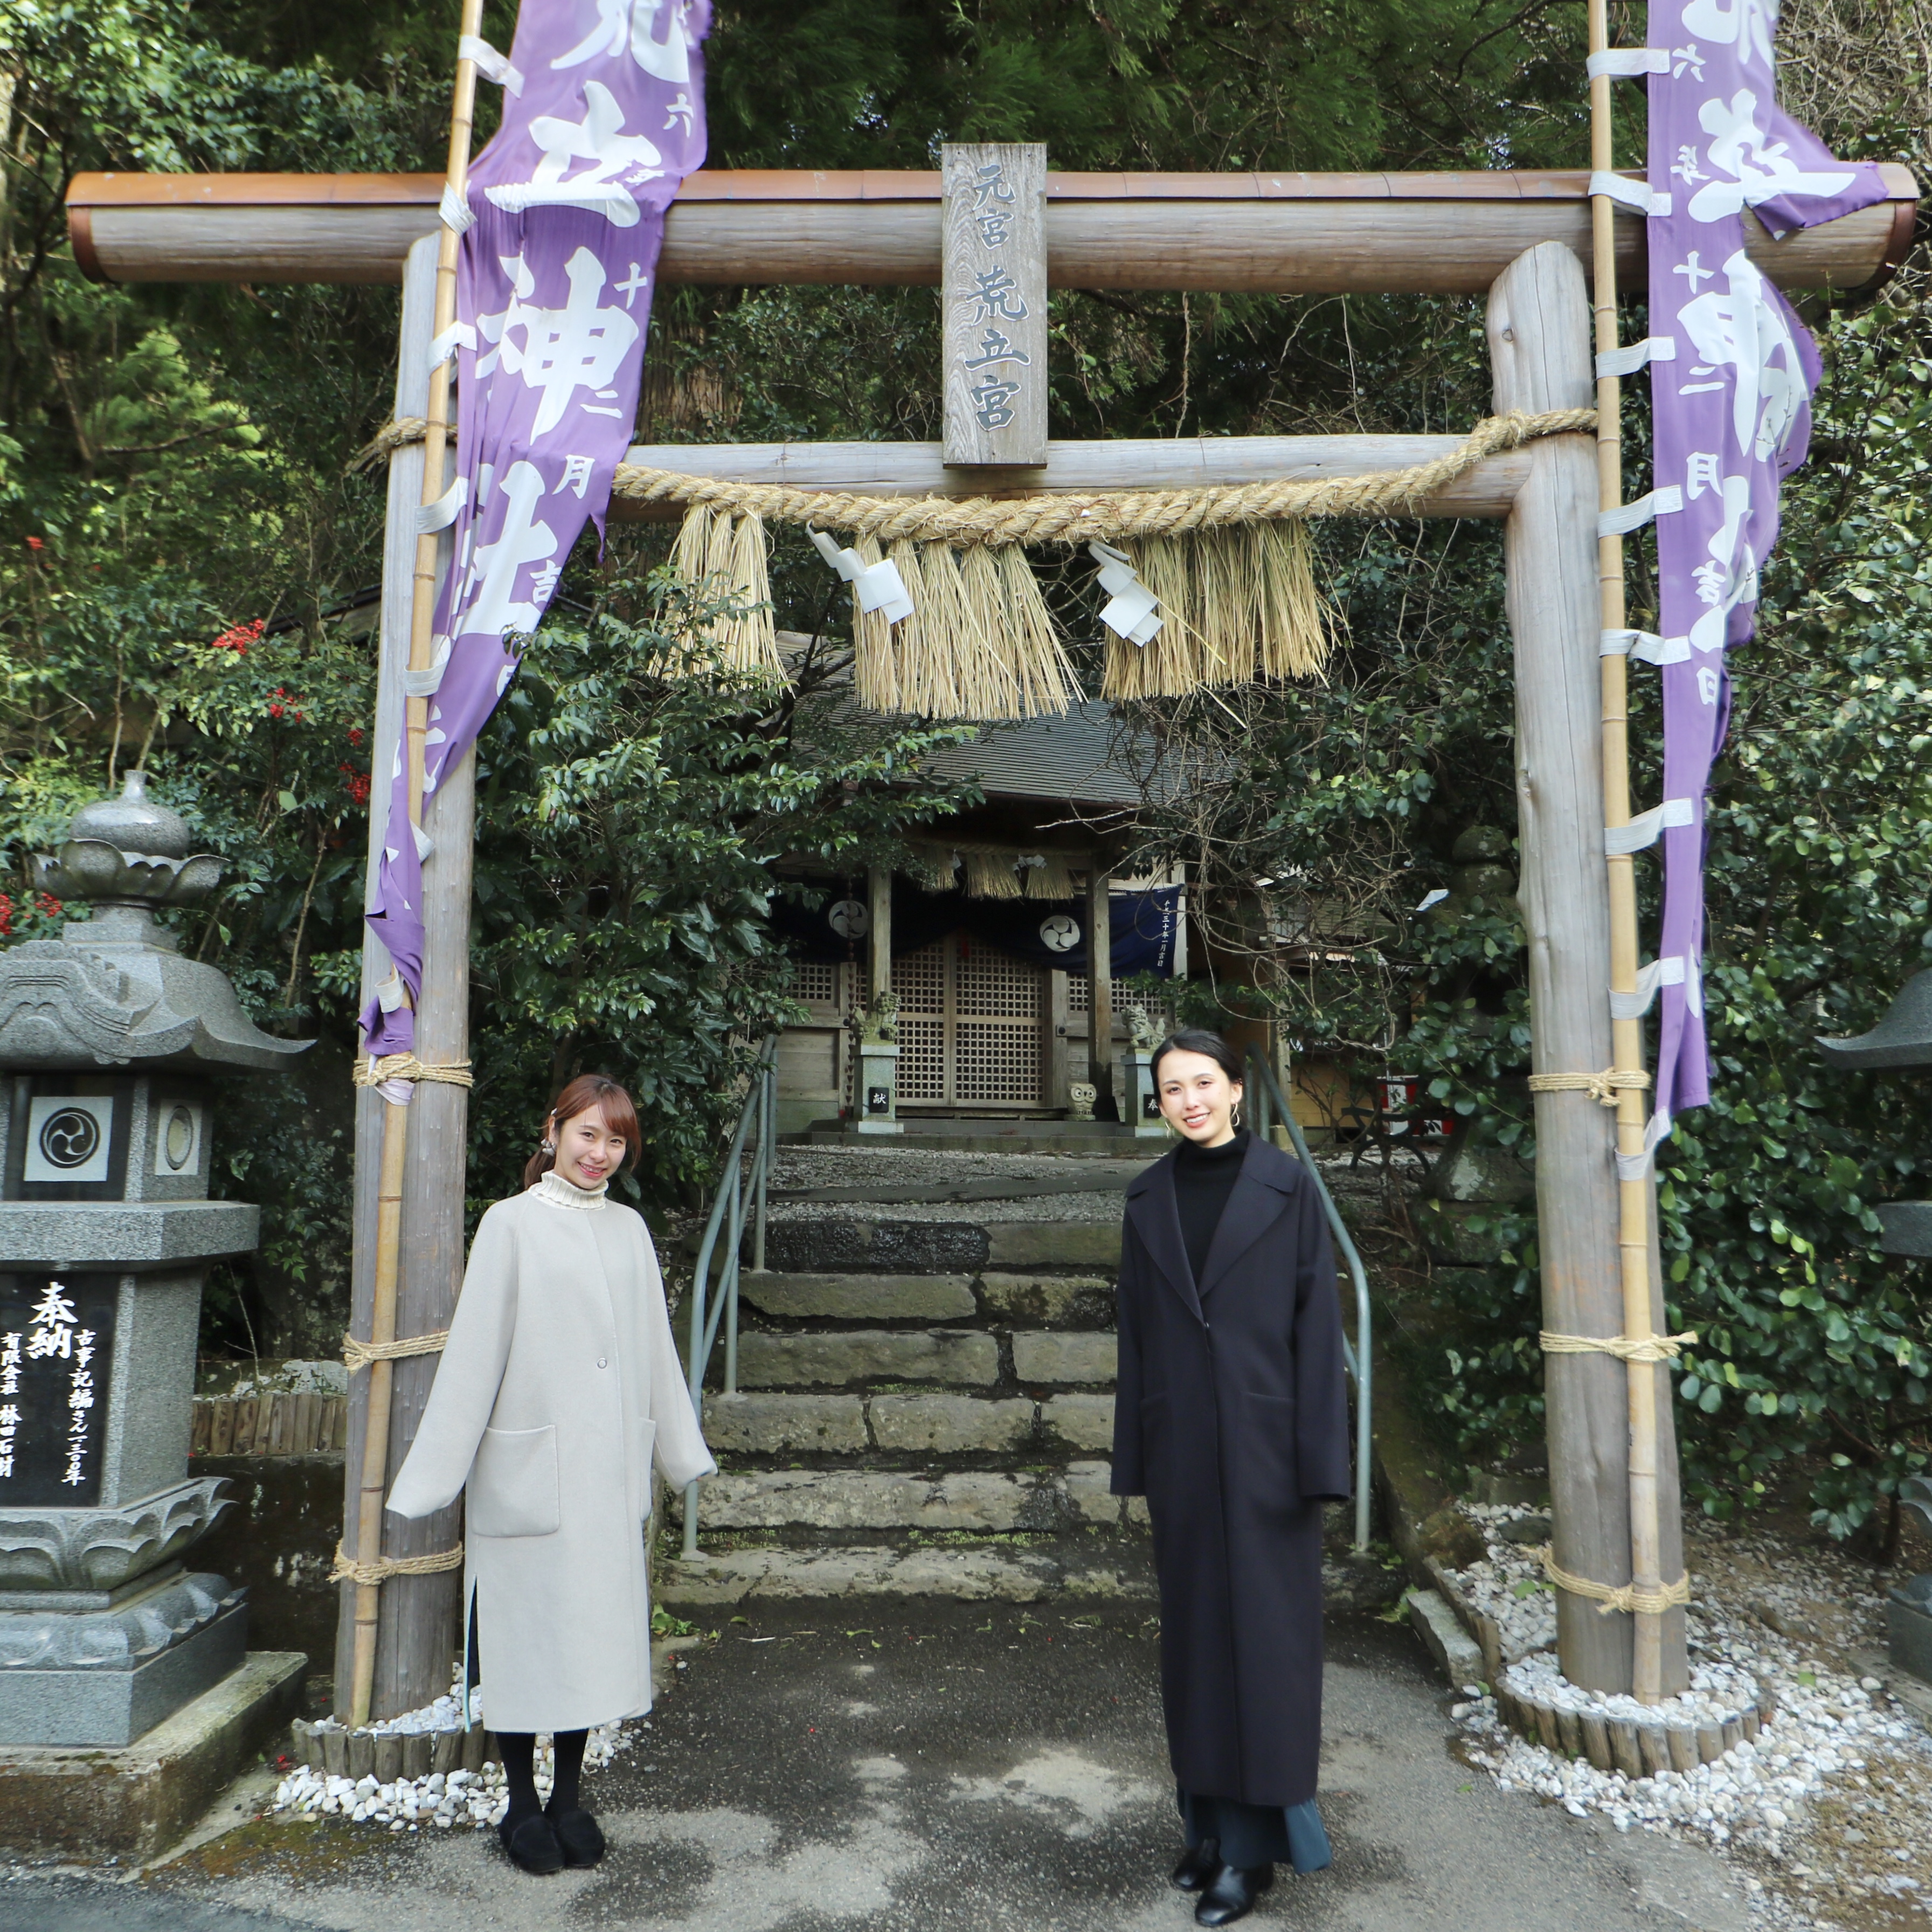
<svg viewBox="0 0 1932 1932"><path fill-rule="evenodd" d="M245 1660L243 1592L187 1561L226 1507L187 1474L201 1285L259 1223L209 1200L209 1076L307 1041L155 922L220 862L143 773L37 867L93 916L0 951L0 1745L124 1747Z"/></svg>

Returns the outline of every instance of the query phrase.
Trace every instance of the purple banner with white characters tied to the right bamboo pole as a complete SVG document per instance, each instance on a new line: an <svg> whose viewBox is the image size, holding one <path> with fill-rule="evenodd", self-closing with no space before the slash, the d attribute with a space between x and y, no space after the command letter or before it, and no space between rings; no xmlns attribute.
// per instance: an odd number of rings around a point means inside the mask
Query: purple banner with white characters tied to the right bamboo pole
<svg viewBox="0 0 1932 1932"><path fill-rule="evenodd" d="M1745 253L1745 209L1774 236L1886 199L1776 99L1768 0L1650 6L1650 392L1658 638L1605 639L1663 678L1663 922L1654 1148L1710 1099L1704 1043L1704 794L1729 717L1725 649L1752 634L1777 487L1804 460L1818 350ZM1627 68L1621 71L1629 71ZM1627 184L1634 195L1642 189Z"/></svg>

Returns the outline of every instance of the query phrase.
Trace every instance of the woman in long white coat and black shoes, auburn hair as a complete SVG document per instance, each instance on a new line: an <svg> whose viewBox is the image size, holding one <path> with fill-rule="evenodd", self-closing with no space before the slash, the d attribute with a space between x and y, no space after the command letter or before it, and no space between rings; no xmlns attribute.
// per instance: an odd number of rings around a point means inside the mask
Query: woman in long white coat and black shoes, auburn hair
<svg viewBox="0 0 1932 1932"><path fill-rule="evenodd" d="M674 1488L717 1466L670 1343L643 1219L607 1198L641 1150L630 1095L572 1080L524 1169L477 1225L435 1387L388 1507L427 1517L468 1488L464 1623L510 1803L504 1851L526 1872L595 1864L578 1803L593 1723L651 1708L645 1522L651 1459ZM539 1806L539 1731L556 1777Z"/></svg>

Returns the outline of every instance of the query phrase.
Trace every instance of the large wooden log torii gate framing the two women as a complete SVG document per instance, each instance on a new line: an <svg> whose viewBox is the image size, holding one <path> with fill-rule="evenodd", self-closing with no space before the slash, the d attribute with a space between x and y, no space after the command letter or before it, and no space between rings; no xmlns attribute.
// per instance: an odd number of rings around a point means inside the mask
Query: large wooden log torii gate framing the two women
<svg viewBox="0 0 1932 1932"><path fill-rule="evenodd" d="M1886 170L1889 201L1772 242L1747 214L1747 245L1785 290L1859 290L1884 278L1909 245L1917 185ZM75 261L108 282L402 282L396 417L419 417L429 388L435 257L442 176L137 176L89 174L70 193ZM1047 174L1047 280L1059 288L1248 290L1271 294L1488 294L1495 408L1542 413L1590 408L1592 201L1584 172L1466 174ZM927 172L732 172L690 176L672 205L659 278L713 284L935 286L943 267L941 176ZM1609 255L1600 232L1596 261ZM1644 224L1615 224L1621 274L1642 265ZM1428 462L1457 437L1233 437L1053 442L1026 468L947 466L941 444L721 444L634 448L634 464L734 481L782 481L867 495L1020 495L1173 489L1271 477L1343 477ZM390 454L375 767L388 771L402 734L423 448ZM439 483L440 489L440 483ZM433 493L431 493L433 495ZM1505 524L1507 609L1517 663L1517 796L1522 914L1530 943L1532 1059L1561 1074L1613 1065L1611 893L1604 829L1607 701L1600 670L1600 479L1594 442L1559 435L1493 456L1416 504L1422 516ZM628 514L622 498L612 516ZM630 512L634 514L634 512ZM1621 622L1621 620L1619 620ZM1621 661L1615 661L1621 694ZM468 1057L468 933L473 761L437 790L425 831L425 974L417 1051ZM371 825L371 887L383 827ZM1634 943L1629 949L1634 972ZM388 972L371 939L363 997ZM1565 1335L1627 1333L1619 1264L1617 1121L1578 1090L1536 1092L1538 1221L1546 1327ZM357 1095L352 1329L369 1333L383 1103ZM423 1086L413 1101L404 1177L404 1254L396 1329L448 1325L464 1267L468 1095ZM1625 1229L1625 1236L1627 1236ZM1652 1271L1650 1331L1663 1327ZM433 1362L396 1364L386 1466L415 1434ZM1683 1573L1675 1430L1667 1364L1625 1366L1607 1354L1546 1360L1555 1555L1600 1586L1633 1580L1631 1408L1638 1378L1660 1412L1652 1551L1662 1577ZM365 1379L352 1397L346 1551L355 1557ZM1662 1399L1660 1399L1662 1397ZM433 1557L460 1540L458 1511L392 1522L388 1555ZM381 1555L383 1551L371 1551ZM352 1669L354 1586L338 1638L338 1704ZM396 1714L446 1689L456 1648L458 1582L450 1573L396 1575L375 1667L373 1712ZM1633 1689L1629 1611L1600 1615L1559 1590L1565 1675L1590 1690ZM1650 1617L1662 1644L1663 1694L1687 1681L1683 1611ZM1656 1658L1652 1662L1656 1673Z"/></svg>

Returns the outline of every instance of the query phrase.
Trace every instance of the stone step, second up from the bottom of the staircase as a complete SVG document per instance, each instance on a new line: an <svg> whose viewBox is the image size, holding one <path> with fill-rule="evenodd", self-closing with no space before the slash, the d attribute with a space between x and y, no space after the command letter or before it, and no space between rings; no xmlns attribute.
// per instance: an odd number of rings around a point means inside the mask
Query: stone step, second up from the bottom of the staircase
<svg viewBox="0 0 1932 1932"><path fill-rule="evenodd" d="M1111 1464L1053 1470L757 1468L707 1476L703 1530L1074 1530L1146 1522L1142 1497L1113 1495ZM684 1495L670 1499L684 1520Z"/></svg>

